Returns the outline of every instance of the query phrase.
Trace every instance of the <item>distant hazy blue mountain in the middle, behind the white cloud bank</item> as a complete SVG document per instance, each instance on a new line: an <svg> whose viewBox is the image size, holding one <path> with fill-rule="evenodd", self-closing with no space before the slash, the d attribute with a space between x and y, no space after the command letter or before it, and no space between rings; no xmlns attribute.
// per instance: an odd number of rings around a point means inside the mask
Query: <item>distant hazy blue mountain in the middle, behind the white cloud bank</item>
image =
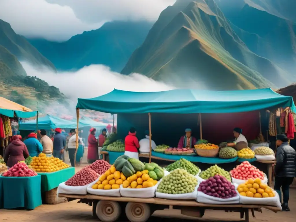
<svg viewBox="0 0 296 222"><path fill-rule="evenodd" d="M133 51L144 41L152 23L107 22L97 30L83 32L65 42L28 39L58 70L77 70L104 64L112 71L126 65Z"/></svg>

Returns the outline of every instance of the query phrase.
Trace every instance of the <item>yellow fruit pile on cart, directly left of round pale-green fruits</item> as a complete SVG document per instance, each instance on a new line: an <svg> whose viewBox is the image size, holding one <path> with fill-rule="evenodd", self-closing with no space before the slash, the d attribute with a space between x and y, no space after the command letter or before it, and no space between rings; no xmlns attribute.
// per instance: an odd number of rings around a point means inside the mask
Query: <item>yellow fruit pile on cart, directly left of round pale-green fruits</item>
<svg viewBox="0 0 296 222"><path fill-rule="evenodd" d="M147 188L155 186L157 184L157 180L153 180L152 178L150 178L148 173L148 170L136 172L132 176L126 178L125 181L123 181L123 188Z"/></svg>

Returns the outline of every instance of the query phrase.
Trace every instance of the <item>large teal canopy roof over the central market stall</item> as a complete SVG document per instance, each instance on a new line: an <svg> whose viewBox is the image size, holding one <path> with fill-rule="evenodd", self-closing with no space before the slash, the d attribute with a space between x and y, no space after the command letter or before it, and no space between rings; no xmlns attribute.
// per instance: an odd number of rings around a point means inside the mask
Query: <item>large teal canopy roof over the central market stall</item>
<svg viewBox="0 0 296 222"><path fill-rule="evenodd" d="M272 89L205 91L174 89L161 92L131 92L114 89L91 99L78 99L76 108L107 113L230 113L292 107L292 96Z"/></svg>

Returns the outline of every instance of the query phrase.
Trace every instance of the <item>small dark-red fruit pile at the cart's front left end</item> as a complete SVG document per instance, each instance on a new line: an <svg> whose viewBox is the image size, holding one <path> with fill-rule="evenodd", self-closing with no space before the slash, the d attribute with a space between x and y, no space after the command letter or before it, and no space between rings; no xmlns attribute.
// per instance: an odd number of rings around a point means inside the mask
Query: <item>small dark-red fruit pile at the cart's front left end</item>
<svg viewBox="0 0 296 222"><path fill-rule="evenodd" d="M97 178L98 175L94 170L85 167L67 180L65 184L67 186L85 186L94 182Z"/></svg>

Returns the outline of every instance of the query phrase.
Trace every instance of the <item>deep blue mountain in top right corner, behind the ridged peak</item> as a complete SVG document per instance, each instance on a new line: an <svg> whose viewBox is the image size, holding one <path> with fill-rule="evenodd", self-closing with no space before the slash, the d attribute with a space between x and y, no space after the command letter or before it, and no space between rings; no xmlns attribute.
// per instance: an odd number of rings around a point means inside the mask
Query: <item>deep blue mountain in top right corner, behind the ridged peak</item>
<svg viewBox="0 0 296 222"><path fill-rule="evenodd" d="M287 73L295 72L296 1L217 0L217 4L252 52Z"/></svg>

